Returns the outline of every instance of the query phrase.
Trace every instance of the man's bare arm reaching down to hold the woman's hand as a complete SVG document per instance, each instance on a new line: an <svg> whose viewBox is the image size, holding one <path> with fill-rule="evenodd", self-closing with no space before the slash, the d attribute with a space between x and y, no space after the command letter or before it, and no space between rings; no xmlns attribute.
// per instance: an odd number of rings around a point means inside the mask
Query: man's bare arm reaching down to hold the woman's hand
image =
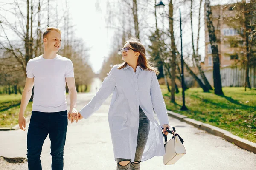
<svg viewBox="0 0 256 170"><path fill-rule="evenodd" d="M76 113L72 113L73 109L76 109L76 85L75 85L75 78L74 77L66 77L67 87L68 87L68 94L70 98L70 110L68 112L68 119L71 119L71 123L74 122L74 117L77 115ZM76 122L78 119L76 119Z"/></svg>

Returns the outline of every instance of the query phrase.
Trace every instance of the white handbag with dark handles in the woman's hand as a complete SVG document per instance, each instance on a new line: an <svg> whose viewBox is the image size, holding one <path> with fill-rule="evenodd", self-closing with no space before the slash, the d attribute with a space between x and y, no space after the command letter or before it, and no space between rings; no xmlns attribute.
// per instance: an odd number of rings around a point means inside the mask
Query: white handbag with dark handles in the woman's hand
<svg viewBox="0 0 256 170"><path fill-rule="evenodd" d="M171 126L170 126L171 127ZM167 142L167 136L163 134L165 138L164 150L165 155L163 156L163 164L170 165L175 164L182 156L186 154L186 149L183 146L183 139L175 133L175 128L172 127L172 131L166 129L167 132L172 134L172 139Z"/></svg>

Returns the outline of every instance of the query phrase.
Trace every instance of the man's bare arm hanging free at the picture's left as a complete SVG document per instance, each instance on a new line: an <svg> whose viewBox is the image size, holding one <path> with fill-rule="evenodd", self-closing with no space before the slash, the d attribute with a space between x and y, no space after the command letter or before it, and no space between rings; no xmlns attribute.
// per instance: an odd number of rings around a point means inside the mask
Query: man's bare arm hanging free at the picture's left
<svg viewBox="0 0 256 170"><path fill-rule="evenodd" d="M26 119L24 117L25 109L29 103L29 99L32 95L32 89L34 86L34 78L26 78L25 88L22 92L22 98L20 102L19 112L19 126L21 130L26 130Z"/></svg>

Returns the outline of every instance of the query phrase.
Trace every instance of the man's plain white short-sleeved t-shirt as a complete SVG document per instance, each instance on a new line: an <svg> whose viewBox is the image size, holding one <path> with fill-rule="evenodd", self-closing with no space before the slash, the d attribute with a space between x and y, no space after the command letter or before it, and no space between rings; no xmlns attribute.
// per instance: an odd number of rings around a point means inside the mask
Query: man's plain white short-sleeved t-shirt
<svg viewBox="0 0 256 170"><path fill-rule="evenodd" d="M57 54L54 59L43 56L30 59L27 77L34 78L33 111L59 112L67 110L66 77L74 77L70 59Z"/></svg>

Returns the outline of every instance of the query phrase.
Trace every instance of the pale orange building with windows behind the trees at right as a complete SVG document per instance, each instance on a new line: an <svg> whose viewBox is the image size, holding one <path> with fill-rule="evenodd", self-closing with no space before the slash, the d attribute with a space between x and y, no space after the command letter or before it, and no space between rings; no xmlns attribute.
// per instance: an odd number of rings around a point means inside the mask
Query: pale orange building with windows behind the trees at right
<svg viewBox="0 0 256 170"><path fill-rule="evenodd" d="M235 4L229 5L216 5L211 6L212 9L212 20L213 26L215 27L215 35L218 42L218 52L220 57L221 68L227 67L229 65L235 64L239 56L243 55L241 50L241 45L244 44L240 31L232 26L231 22L228 22L227 18L235 17L237 8L234 8ZM209 34L206 21L206 8L204 8L205 15L205 59L204 59L204 69L212 69L213 59L212 59L212 49L209 42ZM238 21L239 25L239 21Z"/></svg>

